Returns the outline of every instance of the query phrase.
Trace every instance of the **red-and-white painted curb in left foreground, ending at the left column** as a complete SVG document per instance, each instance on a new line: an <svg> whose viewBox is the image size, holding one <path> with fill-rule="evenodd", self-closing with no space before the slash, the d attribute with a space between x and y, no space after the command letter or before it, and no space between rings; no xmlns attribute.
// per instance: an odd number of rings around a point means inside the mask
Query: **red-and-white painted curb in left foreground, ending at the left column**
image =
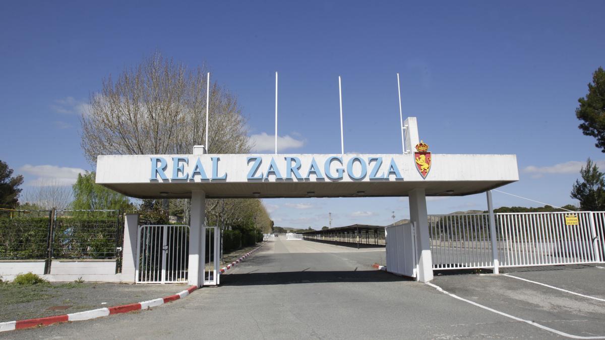
<svg viewBox="0 0 605 340"><path fill-rule="evenodd" d="M256 249L255 249L256 250ZM82 320L90 320L96 318L102 318L103 316L114 315L119 313L128 313L134 310L145 310L149 309L149 307L160 306L161 304L165 304L167 302L175 301L181 298L185 298L185 296L191 294L197 287L191 286L182 292L179 292L175 295L165 296L159 299L152 299L148 301L142 301L134 304L125 304L122 306L113 306L113 307L105 307L93 310L85 310L84 312L76 312L71 314L64 315L55 315L55 316L47 316L45 318L34 318L34 319L25 319L18 321L8 321L8 322L0 322L0 332L7 332L9 330L17 330L17 329L28 329L31 327L38 326L46 326L57 324L59 322L67 322L67 321L82 321Z"/></svg>

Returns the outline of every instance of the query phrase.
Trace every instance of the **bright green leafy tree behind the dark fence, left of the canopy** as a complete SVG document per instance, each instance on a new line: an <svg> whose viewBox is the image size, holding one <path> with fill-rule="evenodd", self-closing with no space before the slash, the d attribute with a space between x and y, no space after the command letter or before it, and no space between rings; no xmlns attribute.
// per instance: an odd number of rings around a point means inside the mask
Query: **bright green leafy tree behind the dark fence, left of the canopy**
<svg viewBox="0 0 605 340"><path fill-rule="evenodd" d="M86 172L77 175L73 189L73 209L132 209L125 195L94 183L95 173Z"/></svg>

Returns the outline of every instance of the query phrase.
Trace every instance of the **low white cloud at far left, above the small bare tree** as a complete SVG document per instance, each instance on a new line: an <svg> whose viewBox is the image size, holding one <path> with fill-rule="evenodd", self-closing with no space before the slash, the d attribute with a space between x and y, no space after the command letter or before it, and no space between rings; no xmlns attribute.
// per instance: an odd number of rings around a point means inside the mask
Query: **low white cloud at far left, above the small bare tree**
<svg viewBox="0 0 605 340"><path fill-rule="evenodd" d="M22 166L19 171L35 177L27 181L26 185L28 186L73 185L76 183L77 175L85 172L84 169L80 168L29 164Z"/></svg>

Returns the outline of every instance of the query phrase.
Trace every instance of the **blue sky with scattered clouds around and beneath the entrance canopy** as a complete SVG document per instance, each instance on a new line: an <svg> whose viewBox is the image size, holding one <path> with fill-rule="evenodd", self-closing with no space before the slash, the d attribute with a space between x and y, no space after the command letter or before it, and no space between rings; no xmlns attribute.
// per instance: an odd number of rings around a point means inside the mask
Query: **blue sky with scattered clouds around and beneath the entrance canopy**
<svg viewBox="0 0 605 340"><path fill-rule="evenodd" d="M404 117L436 153L517 154L520 181L503 188L555 205L586 157L605 157L574 110L605 66L605 2L2 2L0 159L68 185L90 170L79 112L101 80L155 50L238 97L250 134L273 136L280 72L284 152L338 153L338 76L345 152L401 152ZM258 137L258 136L255 136ZM263 143L259 143L262 146ZM54 179L53 179L54 178ZM276 225L386 224L407 199L266 200ZM537 203L494 193L496 206ZM429 201L429 212L486 209L485 195Z"/></svg>

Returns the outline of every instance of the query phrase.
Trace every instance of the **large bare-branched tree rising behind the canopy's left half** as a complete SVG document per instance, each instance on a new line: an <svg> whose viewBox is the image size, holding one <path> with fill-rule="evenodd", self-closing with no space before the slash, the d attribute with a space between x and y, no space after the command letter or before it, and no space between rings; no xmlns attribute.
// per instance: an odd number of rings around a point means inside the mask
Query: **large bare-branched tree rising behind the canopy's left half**
<svg viewBox="0 0 605 340"><path fill-rule="evenodd" d="M102 154L185 154L206 136L205 66L189 70L156 52L114 81L104 79L83 113L82 149L91 164ZM246 153L246 119L229 91L211 84L209 152Z"/></svg>

